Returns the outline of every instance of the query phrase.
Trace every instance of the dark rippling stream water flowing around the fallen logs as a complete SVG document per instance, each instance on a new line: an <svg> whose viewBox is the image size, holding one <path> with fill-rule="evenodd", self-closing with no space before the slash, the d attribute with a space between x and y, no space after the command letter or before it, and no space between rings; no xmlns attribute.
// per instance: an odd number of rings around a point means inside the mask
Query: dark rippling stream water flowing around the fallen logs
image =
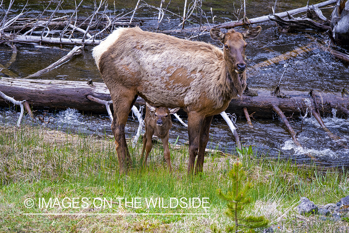
<svg viewBox="0 0 349 233"><path fill-rule="evenodd" d="M21 9L26 1L16 1L14 9ZM43 6L47 5L48 1L29 1L32 5L28 7L28 15L37 16ZM80 1L79 1L80 2ZM146 1L149 5L159 6L160 1ZM242 1L243 2L243 1ZM307 1L278 1L276 12L283 12L299 7L306 6ZM125 14L130 12L136 5L136 1L116 1L114 10L114 1L108 1L109 7L106 12L109 14ZM143 2L144 3L144 2ZM165 1L165 5L167 5ZM189 3L189 2L188 2ZM246 1L246 15L248 18L267 15L272 12L272 7L275 1ZM316 1L310 4L318 3ZM8 1L5 1L5 5ZM169 10L180 15L183 14L183 1L171 2ZM93 10L93 1L83 1L81 12L82 15L89 15ZM189 5L190 7L190 5ZM235 7L235 8L234 8ZM51 7L52 12L55 5ZM73 1L65 1L61 6L62 9L58 14L71 14L75 9ZM211 12L212 8L212 12ZM203 13L195 11L193 22L211 24L236 20L240 9L240 1L209 1L203 2L201 9ZM11 13L18 14L18 10L13 10ZM323 10L326 17L329 17L332 9ZM1 12L0 12L1 13ZM194 13L193 13L194 14ZM164 19L160 26L162 30L176 29L180 19L178 16L170 15L169 19ZM239 18L243 15L243 10L240 12ZM135 15L135 19L143 19L144 30L154 30L157 23L158 12L154 8L141 7ZM205 17L206 16L206 17ZM215 16L214 19L212 16ZM0 15L1 17L1 15ZM328 45L329 39L326 34L321 34L315 31L295 32L295 33L280 33L273 22L265 22L259 24L262 26L260 35L248 41L246 50L246 58L248 65L254 67L262 61L274 57L282 57L283 54L291 52L297 48L308 50L295 55L291 59L280 59L277 63L260 68L250 68L247 72L250 88L262 88L272 90L276 87L285 67L288 64L287 70L284 73L281 82L282 90L300 90L308 92L313 89L315 92L340 92L343 88L349 88L349 68L348 63L335 59L330 53L321 49L321 46ZM187 25L188 26L188 25ZM239 27L237 30L244 30ZM191 37L193 34L174 33L174 36L181 38ZM210 42L219 45L210 39L208 34L200 35L193 38ZM43 48L34 45L16 44L18 55L15 63L12 64L10 70L17 73L21 77L35 73L41 70L62 56L66 55L72 48L70 46ZM94 64L91 56L91 46L87 46L84 52L69 61L65 65L43 74L40 79L60 79L86 81L93 79L95 82L102 82L101 76ZM340 48L335 48L341 50ZM341 50L342 52L348 52ZM11 51L5 45L0 44L0 63L6 63L11 56ZM37 111L36 117L43 116L43 111ZM302 113L304 115L304 113ZM2 124L15 124L17 112L13 108L0 109L0 122ZM111 134L109 118L106 114L91 114L82 113L73 109L56 110L46 113L46 118L52 116L55 121L50 124L45 124L50 128L58 128L65 131L82 132L82 133L97 133ZM183 117L186 120L185 116ZM348 119L337 118L335 112L332 115L324 116L325 125L341 137L341 143L348 145L349 140L349 121ZM26 118L28 124L33 122L29 117ZM37 119L34 119L35 124L43 124ZM40 123L37 123L40 122ZM324 166L345 165L349 166L349 149L338 146L338 143L328 138L319 124L312 118L305 118L301 127L302 118L295 117L291 122L295 131L302 128L302 132L298 135L299 142L303 148L297 148L293 145L291 137L285 126L279 119L274 116L273 119L253 119L254 128L251 129L244 119L238 119L236 124L238 132L242 138L244 145L254 145L255 150L263 151L268 156L282 156L284 158L292 158L297 163L310 163L315 161ZM138 127L138 121L131 116L128 119L126 133L132 137L135 135ZM235 151L235 140L230 132L227 124L223 119L217 117L211 125L211 137L208 147L216 148L232 153ZM175 119L173 120L173 128L170 133L172 142L179 135L179 142L186 143L187 132ZM310 159L310 157L314 159Z"/></svg>

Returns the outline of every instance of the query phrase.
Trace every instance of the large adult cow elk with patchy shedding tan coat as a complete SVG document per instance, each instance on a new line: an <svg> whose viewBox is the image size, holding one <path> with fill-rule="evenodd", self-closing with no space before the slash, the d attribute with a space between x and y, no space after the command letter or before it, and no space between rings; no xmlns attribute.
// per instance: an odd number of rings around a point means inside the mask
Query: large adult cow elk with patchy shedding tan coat
<svg viewBox="0 0 349 233"><path fill-rule="evenodd" d="M188 174L202 171L213 115L224 111L246 87L246 38L261 27L227 33L211 29L214 45L179 39L140 28L119 28L93 49L102 78L113 101L114 134L120 173L127 173L131 157L125 124L138 96L155 107L183 108L188 114Z"/></svg>

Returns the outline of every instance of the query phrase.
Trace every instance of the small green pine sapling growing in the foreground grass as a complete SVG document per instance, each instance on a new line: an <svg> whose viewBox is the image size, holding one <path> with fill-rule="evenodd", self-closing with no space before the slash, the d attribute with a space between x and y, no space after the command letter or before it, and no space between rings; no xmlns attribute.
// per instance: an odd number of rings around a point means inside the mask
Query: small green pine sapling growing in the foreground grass
<svg viewBox="0 0 349 233"><path fill-rule="evenodd" d="M229 177L232 180L232 190L227 194L224 194L221 189L217 190L218 196L228 202L228 210L225 213L235 221L234 225L227 226L227 232L255 232L255 228L266 227L268 220L264 216L243 216L244 206L251 202L247 194L253 185L246 181L241 163L236 162L233 165Z"/></svg>

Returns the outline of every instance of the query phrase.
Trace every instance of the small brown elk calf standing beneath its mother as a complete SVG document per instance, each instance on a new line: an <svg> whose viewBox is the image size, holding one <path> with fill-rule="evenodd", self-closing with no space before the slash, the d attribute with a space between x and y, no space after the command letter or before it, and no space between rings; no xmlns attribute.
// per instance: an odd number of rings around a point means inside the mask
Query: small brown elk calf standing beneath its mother
<svg viewBox="0 0 349 233"><path fill-rule="evenodd" d="M144 150L146 151L146 158L144 159L144 165L147 164L148 155L151 151L153 143L151 138L153 135L159 137L164 147L164 157L169 167L169 172L172 172L170 149L169 149L169 132L172 127L172 120L170 114L175 114L179 108L168 109L164 107L155 108L146 103L146 117L144 118L144 124L146 132L143 136L143 149L141 155L141 161L143 161Z"/></svg>

